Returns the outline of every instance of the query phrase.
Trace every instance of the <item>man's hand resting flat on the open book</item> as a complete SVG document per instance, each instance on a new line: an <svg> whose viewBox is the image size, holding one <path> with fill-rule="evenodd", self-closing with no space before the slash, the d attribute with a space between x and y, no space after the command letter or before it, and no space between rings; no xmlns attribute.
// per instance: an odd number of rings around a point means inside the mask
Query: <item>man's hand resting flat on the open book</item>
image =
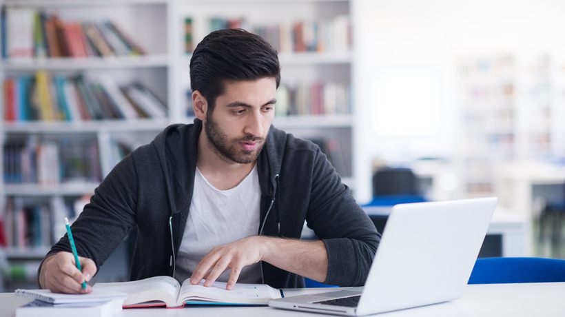
<svg viewBox="0 0 565 317"><path fill-rule="evenodd" d="M262 236L250 236L241 240L214 247L209 254L196 265L190 276L190 283L196 285L205 278L204 286L210 286L226 269L232 269L227 280L226 289L236 284L241 269L247 265L258 263L263 259L264 246Z"/></svg>

